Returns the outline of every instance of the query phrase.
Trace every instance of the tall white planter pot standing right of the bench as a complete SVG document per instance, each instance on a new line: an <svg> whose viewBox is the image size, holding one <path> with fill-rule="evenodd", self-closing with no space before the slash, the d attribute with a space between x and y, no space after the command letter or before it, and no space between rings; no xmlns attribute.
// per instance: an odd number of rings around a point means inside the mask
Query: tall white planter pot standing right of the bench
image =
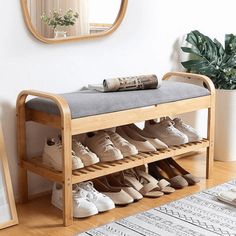
<svg viewBox="0 0 236 236"><path fill-rule="evenodd" d="M215 160L236 161L236 90L216 90Z"/></svg>

